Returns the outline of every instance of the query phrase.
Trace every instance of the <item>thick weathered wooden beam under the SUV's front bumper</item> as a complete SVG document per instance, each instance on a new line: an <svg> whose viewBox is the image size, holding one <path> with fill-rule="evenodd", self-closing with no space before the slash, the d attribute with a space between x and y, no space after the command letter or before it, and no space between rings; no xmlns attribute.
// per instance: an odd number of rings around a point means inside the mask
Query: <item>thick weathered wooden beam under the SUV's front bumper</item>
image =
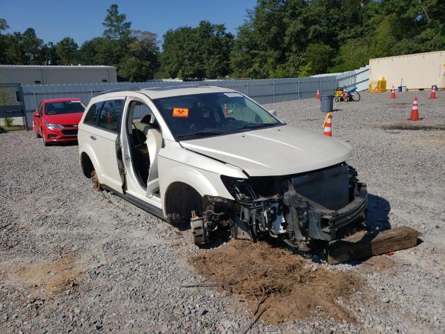
<svg viewBox="0 0 445 334"><path fill-rule="evenodd" d="M331 241L326 249L326 260L329 264L337 264L411 248L416 246L418 236L419 232L406 226L382 232L358 232Z"/></svg>

